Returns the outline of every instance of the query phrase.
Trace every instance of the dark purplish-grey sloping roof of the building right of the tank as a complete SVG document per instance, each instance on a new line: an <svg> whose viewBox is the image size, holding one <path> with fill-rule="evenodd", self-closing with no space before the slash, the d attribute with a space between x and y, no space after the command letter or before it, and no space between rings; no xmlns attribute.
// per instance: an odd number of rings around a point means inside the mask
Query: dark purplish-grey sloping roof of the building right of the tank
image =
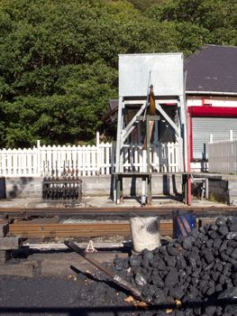
<svg viewBox="0 0 237 316"><path fill-rule="evenodd" d="M205 45L185 60L186 91L237 93L237 47Z"/></svg>

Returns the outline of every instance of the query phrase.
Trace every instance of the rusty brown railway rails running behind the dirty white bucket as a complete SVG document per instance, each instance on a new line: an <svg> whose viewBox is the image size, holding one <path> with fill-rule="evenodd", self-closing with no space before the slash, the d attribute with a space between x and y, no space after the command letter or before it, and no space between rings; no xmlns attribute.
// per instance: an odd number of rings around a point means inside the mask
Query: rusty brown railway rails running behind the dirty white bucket
<svg viewBox="0 0 237 316"><path fill-rule="evenodd" d="M35 209L0 209L0 218L8 218L11 236L31 238L55 237L130 237L129 218L138 216L160 216L161 236L172 237L172 211L174 209L192 210L197 218L215 218L236 214L236 207L112 207L112 208L35 208ZM32 219L33 218L33 219ZM89 218L87 223L75 221L62 222L62 218ZM98 218L100 221L98 221ZM104 219L102 219L104 218ZM105 222L109 218L110 222ZM120 218L123 222L116 221ZM24 219L24 220L23 220ZM27 219L27 220L25 220ZM94 220L92 220L94 219ZM95 222L95 219L97 220ZM104 220L104 221L103 221Z"/></svg>

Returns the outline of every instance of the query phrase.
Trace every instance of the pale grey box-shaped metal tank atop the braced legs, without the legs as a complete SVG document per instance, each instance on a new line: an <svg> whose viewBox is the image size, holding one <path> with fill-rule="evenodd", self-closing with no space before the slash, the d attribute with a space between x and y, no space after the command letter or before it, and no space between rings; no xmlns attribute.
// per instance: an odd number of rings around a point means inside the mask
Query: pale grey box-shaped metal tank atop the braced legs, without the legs
<svg viewBox="0 0 237 316"><path fill-rule="evenodd" d="M147 97L150 84L159 96L181 96L183 72L181 53L119 55L119 96Z"/></svg>

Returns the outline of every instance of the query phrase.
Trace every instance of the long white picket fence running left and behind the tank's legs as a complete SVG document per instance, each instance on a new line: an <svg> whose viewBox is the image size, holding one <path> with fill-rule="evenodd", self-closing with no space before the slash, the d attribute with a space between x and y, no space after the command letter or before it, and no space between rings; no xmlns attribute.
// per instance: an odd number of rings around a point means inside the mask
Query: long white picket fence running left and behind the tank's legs
<svg viewBox="0 0 237 316"><path fill-rule="evenodd" d="M144 154L141 144L131 144L124 150L124 172L142 172ZM78 176L110 174L115 171L114 144L97 142L96 145L83 146L45 146L38 142L29 149L0 150L0 174L15 176L45 176L52 170L61 172L77 171ZM178 172L178 144L152 145L150 164L152 172Z"/></svg>

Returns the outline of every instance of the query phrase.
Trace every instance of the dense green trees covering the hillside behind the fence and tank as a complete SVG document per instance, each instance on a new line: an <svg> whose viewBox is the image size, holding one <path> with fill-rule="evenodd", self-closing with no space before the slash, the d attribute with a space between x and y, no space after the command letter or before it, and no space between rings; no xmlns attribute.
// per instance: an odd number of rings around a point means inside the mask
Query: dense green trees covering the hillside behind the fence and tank
<svg viewBox="0 0 237 316"><path fill-rule="evenodd" d="M2 0L0 146L95 138L119 53L237 45L235 0Z"/></svg>

